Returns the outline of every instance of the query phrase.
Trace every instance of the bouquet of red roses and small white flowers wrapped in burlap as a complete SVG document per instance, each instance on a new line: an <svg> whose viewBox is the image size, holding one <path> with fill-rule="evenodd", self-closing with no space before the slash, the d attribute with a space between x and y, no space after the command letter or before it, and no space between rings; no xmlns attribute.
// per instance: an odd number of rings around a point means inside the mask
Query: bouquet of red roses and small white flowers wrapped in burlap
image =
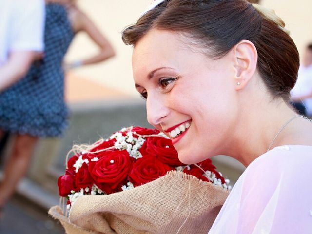
<svg viewBox="0 0 312 234"><path fill-rule="evenodd" d="M91 146L74 146L52 207L68 234L207 233L229 181L210 159L185 165L156 129L124 128Z"/></svg>

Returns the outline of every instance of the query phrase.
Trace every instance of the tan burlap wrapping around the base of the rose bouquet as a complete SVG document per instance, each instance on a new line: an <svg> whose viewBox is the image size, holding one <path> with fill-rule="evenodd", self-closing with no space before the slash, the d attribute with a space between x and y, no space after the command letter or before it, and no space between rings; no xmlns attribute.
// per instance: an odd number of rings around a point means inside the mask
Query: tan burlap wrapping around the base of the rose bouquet
<svg viewBox="0 0 312 234"><path fill-rule="evenodd" d="M207 234L228 194L171 171L131 190L79 197L69 219L57 207L49 214L61 221L67 234Z"/></svg>

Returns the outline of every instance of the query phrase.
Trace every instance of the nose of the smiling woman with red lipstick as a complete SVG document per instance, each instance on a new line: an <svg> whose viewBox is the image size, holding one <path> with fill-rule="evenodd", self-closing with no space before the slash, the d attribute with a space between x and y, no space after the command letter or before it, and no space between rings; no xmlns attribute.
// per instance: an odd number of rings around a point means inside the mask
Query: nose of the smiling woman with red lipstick
<svg viewBox="0 0 312 234"><path fill-rule="evenodd" d="M156 126L169 114L169 108L164 104L164 99L156 95L148 96L146 100L147 121Z"/></svg>

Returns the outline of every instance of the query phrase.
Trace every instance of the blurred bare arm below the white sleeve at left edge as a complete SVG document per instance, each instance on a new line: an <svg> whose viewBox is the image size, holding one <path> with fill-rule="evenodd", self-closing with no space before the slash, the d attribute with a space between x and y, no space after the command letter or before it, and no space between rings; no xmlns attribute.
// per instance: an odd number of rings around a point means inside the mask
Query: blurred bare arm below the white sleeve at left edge
<svg viewBox="0 0 312 234"><path fill-rule="evenodd" d="M6 63L0 67L0 92L24 77L37 52L17 51L11 52Z"/></svg>

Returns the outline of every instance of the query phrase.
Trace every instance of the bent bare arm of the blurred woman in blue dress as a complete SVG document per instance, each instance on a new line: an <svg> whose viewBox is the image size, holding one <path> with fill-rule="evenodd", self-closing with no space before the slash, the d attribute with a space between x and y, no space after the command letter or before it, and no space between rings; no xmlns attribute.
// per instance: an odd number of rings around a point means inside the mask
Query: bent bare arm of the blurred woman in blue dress
<svg viewBox="0 0 312 234"><path fill-rule="evenodd" d="M73 6L70 9L69 14L74 31L86 32L88 36L94 41L94 43L96 43L100 48L98 54L92 56L91 58L83 59L81 62L70 64L69 67L76 67L74 64L94 64L115 56L115 51L112 45L98 30L96 25L83 12L81 12L76 6Z"/></svg>

